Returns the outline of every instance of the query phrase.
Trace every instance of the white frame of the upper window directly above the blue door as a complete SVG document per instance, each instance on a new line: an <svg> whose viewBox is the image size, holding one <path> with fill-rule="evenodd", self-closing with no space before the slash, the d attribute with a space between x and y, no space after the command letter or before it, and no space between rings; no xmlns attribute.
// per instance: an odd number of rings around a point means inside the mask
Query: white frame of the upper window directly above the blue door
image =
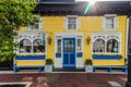
<svg viewBox="0 0 131 87"><path fill-rule="evenodd" d="M76 18L76 28L69 28L69 17L75 17ZM66 21L64 21L64 28L66 30L79 30L80 29L80 17L79 15L67 15L66 16Z"/></svg>

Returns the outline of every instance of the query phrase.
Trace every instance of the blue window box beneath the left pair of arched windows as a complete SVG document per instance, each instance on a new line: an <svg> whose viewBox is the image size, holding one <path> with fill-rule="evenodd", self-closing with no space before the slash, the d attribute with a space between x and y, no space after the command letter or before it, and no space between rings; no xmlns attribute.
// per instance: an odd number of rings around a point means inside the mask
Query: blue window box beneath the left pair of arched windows
<svg viewBox="0 0 131 87"><path fill-rule="evenodd" d="M16 57L16 60L45 60L45 55L27 55L27 57Z"/></svg>

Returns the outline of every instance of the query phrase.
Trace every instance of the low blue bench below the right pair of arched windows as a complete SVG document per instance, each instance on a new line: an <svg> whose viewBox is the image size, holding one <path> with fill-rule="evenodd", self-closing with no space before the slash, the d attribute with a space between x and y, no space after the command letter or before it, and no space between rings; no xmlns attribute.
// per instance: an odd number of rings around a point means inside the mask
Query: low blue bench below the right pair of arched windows
<svg viewBox="0 0 131 87"><path fill-rule="evenodd" d="M93 66L93 72L96 72L97 69L106 69L108 73L111 73L112 70L122 70L123 73L127 73L127 66L126 65L112 65L112 66L102 66L102 65L96 65L96 66Z"/></svg>

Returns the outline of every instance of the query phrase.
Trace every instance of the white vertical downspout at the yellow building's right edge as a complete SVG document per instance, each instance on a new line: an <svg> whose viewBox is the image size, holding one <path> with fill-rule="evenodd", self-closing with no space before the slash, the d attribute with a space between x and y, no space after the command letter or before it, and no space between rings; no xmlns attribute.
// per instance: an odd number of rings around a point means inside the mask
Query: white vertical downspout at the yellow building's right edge
<svg viewBox="0 0 131 87"><path fill-rule="evenodd" d="M126 34L126 64L128 63L128 40L129 40L129 17L127 17L127 34Z"/></svg>

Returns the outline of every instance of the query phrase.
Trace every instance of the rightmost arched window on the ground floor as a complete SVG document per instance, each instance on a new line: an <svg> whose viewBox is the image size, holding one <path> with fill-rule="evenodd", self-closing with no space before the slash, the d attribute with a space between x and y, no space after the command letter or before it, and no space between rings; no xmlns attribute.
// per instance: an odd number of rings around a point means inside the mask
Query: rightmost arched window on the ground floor
<svg viewBox="0 0 131 87"><path fill-rule="evenodd" d="M107 52L118 52L119 42L116 39L109 39L107 41Z"/></svg>

